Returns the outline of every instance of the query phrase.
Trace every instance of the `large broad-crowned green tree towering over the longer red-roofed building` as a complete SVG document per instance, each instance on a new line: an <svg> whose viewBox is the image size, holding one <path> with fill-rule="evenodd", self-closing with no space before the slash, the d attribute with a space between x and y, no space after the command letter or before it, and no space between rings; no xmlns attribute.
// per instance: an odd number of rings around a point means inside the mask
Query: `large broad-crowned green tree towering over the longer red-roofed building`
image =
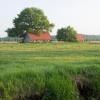
<svg viewBox="0 0 100 100"><path fill-rule="evenodd" d="M13 20L14 27L8 28L8 36L23 36L26 32L39 34L51 31L54 24L50 23L41 9L26 8Z"/></svg>

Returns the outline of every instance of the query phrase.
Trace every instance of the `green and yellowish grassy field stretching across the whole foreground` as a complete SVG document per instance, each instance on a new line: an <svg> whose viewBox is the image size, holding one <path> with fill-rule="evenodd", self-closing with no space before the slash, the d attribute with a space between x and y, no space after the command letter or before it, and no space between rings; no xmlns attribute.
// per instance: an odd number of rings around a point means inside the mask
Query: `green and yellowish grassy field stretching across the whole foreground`
<svg viewBox="0 0 100 100"><path fill-rule="evenodd" d="M0 44L0 100L100 100L100 44Z"/></svg>

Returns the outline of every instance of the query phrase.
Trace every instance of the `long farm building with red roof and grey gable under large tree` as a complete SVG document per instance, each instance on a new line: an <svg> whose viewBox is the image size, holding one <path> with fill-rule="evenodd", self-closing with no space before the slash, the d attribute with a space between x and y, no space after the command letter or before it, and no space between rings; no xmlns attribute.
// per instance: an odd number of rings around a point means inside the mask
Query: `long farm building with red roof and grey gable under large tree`
<svg viewBox="0 0 100 100"><path fill-rule="evenodd" d="M48 32L43 32L38 35L33 33L27 33L24 36L24 42L42 42L42 41L49 42L51 40L52 38Z"/></svg>

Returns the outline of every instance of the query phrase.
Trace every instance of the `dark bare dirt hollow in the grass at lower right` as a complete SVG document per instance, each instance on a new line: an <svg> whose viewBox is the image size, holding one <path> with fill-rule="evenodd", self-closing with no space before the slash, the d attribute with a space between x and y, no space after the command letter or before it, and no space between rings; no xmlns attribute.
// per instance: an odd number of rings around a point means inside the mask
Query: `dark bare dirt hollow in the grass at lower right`
<svg viewBox="0 0 100 100"><path fill-rule="evenodd" d="M91 87L89 80L83 76L76 76L74 79L79 90L80 100L90 100L94 95L94 90Z"/></svg>

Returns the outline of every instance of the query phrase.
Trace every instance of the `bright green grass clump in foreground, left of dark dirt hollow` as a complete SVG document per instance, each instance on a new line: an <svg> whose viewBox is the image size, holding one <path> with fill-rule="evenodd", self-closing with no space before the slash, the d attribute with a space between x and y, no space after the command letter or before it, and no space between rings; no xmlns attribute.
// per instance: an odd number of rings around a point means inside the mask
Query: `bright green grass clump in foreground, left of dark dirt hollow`
<svg viewBox="0 0 100 100"><path fill-rule="evenodd" d="M69 76L63 77L58 74L54 74L48 79L48 90L51 92L52 100L78 100L77 91L75 89L75 83L72 82ZM46 97L48 98L48 96Z"/></svg>

